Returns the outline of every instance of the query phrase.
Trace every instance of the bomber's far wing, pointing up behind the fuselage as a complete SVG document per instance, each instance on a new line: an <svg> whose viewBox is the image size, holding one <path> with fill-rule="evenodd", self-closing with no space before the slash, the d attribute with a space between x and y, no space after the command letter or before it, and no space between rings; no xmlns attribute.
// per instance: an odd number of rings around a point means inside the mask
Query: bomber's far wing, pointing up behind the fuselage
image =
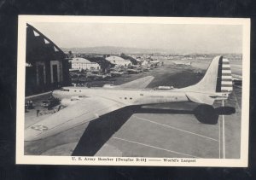
<svg viewBox="0 0 256 180"><path fill-rule="evenodd" d="M149 83L154 79L153 76L147 76L144 78L138 78L136 80L133 80L129 83L121 84L115 86L115 88L137 88L137 89L144 89L148 86Z"/></svg>

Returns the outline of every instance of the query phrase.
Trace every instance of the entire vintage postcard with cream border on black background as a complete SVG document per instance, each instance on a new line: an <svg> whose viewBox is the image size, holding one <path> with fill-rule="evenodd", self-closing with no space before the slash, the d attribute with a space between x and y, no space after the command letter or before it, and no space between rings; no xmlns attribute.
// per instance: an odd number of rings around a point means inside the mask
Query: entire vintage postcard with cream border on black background
<svg viewBox="0 0 256 180"><path fill-rule="evenodd" d="M247 166L250 20L20 15L16 163Z"/></svg>

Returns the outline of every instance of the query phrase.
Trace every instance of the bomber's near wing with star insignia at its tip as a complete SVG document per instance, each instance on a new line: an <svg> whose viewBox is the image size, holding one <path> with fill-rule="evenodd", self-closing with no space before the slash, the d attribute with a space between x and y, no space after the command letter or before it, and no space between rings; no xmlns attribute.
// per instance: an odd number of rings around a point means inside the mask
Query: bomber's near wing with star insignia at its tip
<svg viewBox="0 0 256 180"><path fill-rule="evenodd" d="M122 107L125 107L125 104L98 96L84 98L26 128L25 141L53 136Z"/></svg>

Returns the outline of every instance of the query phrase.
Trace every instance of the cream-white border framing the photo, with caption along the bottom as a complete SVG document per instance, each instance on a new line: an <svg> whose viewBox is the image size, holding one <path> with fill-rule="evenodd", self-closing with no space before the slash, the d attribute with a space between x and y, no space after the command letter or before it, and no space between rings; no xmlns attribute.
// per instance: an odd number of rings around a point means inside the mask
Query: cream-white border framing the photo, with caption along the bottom
<svg viewBox="0 0 256 180"><path fill-rule="evenodd" d="M241 25L242 40L242 102L241 102L241 158L186 159L145 157L76 157L24 155L24 102L26 64L26 22L87 22L87 23L155 23L198 25ZM246 167L248 163L249 92L250 92L250 20L242 18L170 18L170 17L108 17L108 16L50 16L20 15L17 60L17 117L16 164L32 165L154 165L154 166L226 166ZM99 160L98 158L106 159ZM109 160L108 160L109 159ZM113 159L113 160L110 160ZM141 160L141 161L137 161ZM143 161L145 160L145 161ZM160 161L158 161L160 160ZM166 160L166 161L165 161ZM191 161L192 160L192 161ZM194 162L195 160L195 162Z"/></svg>

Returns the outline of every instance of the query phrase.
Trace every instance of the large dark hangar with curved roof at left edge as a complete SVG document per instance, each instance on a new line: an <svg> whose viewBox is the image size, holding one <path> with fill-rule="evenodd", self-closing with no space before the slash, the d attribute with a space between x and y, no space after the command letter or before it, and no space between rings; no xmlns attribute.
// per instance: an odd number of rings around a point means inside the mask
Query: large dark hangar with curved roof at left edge
<svg viewBox="0 0 256 180"><path fill-rule="evenodd" d="M68 69L64 52L26 24L26 96L70 84Z"/></svg>

